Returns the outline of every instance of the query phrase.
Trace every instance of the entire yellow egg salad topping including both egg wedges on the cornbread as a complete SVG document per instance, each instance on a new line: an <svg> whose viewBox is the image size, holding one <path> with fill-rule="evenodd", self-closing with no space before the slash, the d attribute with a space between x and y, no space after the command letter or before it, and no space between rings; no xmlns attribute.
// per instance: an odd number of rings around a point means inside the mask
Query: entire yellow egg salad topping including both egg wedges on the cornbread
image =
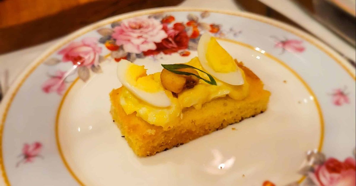
<svg viewBox="0 0 356 186"><path fill-rule="evenodd" d="M147 75L144 66L121 60L117 76L124 86L120 104L126 114L136 112L150 124L169 128L183 108L200 109L225 96L242 100L248 94L244 71L209 34L199 40L198 57L184 64L190 67L172 70L162 65L162 72Z"/></svg>

